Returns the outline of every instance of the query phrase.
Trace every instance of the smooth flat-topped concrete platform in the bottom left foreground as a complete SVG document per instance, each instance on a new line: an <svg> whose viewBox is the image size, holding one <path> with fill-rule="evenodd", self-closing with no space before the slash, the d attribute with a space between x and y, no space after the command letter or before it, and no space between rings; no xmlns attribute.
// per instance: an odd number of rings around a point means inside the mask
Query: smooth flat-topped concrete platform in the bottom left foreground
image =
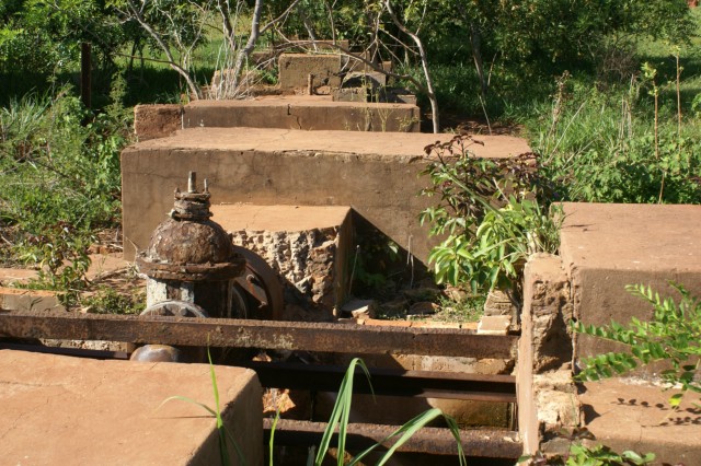
<svg viewBox="0 0 701 466"><path fill-rule="evenodd" d="M228 429L246 464L263 464L255 373L223 366L216 373ZM215 419L181 400L161 406L174 395L214 407L209 366L0 350L0 463L220 464Z"/></svg>

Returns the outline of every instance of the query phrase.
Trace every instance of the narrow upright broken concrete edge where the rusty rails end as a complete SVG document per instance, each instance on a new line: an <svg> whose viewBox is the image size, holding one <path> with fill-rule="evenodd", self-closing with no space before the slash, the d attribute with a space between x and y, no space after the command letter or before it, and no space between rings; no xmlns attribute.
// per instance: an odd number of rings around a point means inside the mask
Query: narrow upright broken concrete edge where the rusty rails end
<svg viewBox="0 0 701 466"><path fill-rule="evenodd" d="M531 256L524 270L524 307L516 385L524 454L552 451L561 430L581 426L572 380L570 280L560 257ZM563 452L560 452L563 453Z"/></svg>

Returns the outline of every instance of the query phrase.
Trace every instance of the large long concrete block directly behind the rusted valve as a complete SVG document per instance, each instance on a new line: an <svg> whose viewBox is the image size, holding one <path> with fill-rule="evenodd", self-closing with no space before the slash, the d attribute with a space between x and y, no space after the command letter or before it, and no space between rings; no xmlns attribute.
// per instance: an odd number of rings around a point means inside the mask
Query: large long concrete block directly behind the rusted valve
<svg viewBox="0 0 701 466"><path fill-rule="evenodd" d="M122 153L125 257L148 246L172 207L183 174L208 178L212 203L352 206L400 246L425 260L434 240L418 224L432 199L418 174L424 148L452 135L193 128L139 142ZM478 156L527 152L521 138L484 136ZM181 186L184 188L184 186Z"/></svg>

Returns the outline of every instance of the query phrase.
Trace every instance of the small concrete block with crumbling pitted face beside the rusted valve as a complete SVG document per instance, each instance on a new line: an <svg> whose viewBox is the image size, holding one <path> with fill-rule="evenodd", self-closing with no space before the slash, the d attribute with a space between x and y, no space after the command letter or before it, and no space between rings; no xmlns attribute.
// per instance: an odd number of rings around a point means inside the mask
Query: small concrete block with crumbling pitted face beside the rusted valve
<svg viewBox="0 0 701 466"><path fill-rule="evenodd" d="M285 321L331 321L349 290L353 245L345 206L212 206L212 220L233 244L275 270L285 294Z"/></svg>

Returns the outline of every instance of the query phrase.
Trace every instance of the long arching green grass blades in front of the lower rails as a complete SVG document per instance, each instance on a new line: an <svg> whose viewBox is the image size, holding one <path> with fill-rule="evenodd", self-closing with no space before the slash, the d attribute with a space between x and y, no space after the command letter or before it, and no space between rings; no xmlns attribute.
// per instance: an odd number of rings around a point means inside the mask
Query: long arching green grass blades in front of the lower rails
<svg viewBox="0 0 701 466"><path fill-rule="evenodd" d="M321 443L319 445L319 450L317 452L317 455L313 462L314 466L321 466L324 457L326 456L326 453L329 452L331 440L334 432L336 431L336 428L338 429L338 432L337 432L338 441L336 445L337 446L337 464L338 466L344 466L345 442L346 442L346 434L347 434L347 428L348 428L348 419L350 416L350 403L353 399L353 380L354 380L357 366L361 369L361 371L368 377L368 381L370 380L370 374L368 372L367 366L363 362L363 360L359 358L354 358L350 361L350 364L348 365L345 376L343 377L343 381L341 383L341 387L338 389L338 394L336 397L336 403L334 404L333 410L331 412L331 417L329 419L329 423L322 435ZM395 440L392 446L390 446L387 450L387 452L384 452L377 462L378 466L383 465L394 454L397 448L402 446L409 439L411 439L411 436L416 431L418 431L427 423L440 417L445 419L446 423L450 428L452 435L456 439L456 442L458 445L458 456L460 459L460 465L466 465L467 463L464 458L464 453L462 451L462 443L460 442L460 431L458 429L458 424L451 417L444 415L440 411L440 409L429 409L416 416L414 419L410 420L404 426L397 429L390 435L382 439L382 441L376 443L375 445L371 445L367 450L359 453L357 456L355 456L350 462L346 463L345 465L353 466L353 465L361 464L360 461L365 456L367 456L369 453L371 453L379 446L386 444L388 441Z"/></svg>

